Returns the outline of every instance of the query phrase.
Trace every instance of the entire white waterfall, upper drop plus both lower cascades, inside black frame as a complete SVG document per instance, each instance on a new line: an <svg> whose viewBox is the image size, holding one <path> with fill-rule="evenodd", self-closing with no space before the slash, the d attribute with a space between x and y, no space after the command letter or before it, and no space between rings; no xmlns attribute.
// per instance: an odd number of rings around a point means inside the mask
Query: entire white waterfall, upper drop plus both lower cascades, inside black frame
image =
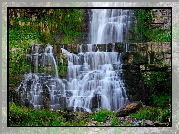
<svg viewBox="0 0 179 134"><path fill-rule="evenodd" d="M51 109L73 107L94 111L107 108L116 111L128 101L125 84L121 78L121 54L115 50L115 42L123 42L127 36L132 11L122 9L93 9L91 18L91 44L79 46L79 53L62 49L67 56L67 78L58 77L58 60L53 47L43 51L36 45L28 57L30 72L18 87L22 102L34 108ZM105 44L104 44L105 43ZM111 43L110 51L108 44ZM101 49L101 46L103 49ZM127 43L126 43L127 44ZM126 51L127 51L126 45ZM44 73L38 73L43 66ZM52 70L49 73L48 68Z"/></svg>

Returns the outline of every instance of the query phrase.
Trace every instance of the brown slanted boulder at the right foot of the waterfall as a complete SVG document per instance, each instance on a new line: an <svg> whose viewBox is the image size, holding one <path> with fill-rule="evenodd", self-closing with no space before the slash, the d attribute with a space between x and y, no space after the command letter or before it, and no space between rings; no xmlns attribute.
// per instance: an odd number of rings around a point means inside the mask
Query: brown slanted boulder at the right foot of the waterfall
<svg viewBox="0 0 179 134"><path fill-rule="evenodd" d="M134 112L138 111L140 108L142 108L142 106L143 106L143 104L141 101L128 103L116 111L116 116L117 117L127 116L130 113L134 113Z"/></svg>

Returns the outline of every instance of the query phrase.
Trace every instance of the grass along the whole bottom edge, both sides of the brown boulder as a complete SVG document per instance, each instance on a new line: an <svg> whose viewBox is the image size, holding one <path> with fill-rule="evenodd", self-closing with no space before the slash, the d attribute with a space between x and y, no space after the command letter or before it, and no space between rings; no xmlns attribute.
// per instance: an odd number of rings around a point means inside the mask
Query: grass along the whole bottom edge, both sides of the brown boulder
<svg viewBox="0 0 179 134"><path fill-rule="evenodd" d="M101 122L104 123L109 116L113 118L109 124L110 126L132 126L128 121L119 123L118 117L115 117L115 113L107 109L101 109L93 113L68 113L65 111L32 109L17 106L13 102L9 103L9 107L10 126L87 126L91 121L96 121L96 126L101 126ZM165 122L164 119L167 118L169 114L167 109L144 107L129 116L138 120L146 119Z"/></svg>

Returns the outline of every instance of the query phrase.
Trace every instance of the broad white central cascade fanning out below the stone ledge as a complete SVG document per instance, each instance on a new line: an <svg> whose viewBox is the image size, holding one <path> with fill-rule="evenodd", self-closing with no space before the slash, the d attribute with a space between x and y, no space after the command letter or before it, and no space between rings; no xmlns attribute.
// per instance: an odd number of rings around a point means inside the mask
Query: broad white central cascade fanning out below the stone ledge
<svg viewBox="0 0 179 134"><path fill-rule="evenodd" d="M116 111L127 102L125 86L115 72L113 64L120 68L120 57L117 52L93 52L92 44L88 44L88 52L78 55L62 48L68 57L68 86L71 94L67 99L67 107L107 108ZM80 63L80 60L84 62ZM118 70L119 71L119 70ZM92 99L100 96L101 105L93 107Z"/></svg>

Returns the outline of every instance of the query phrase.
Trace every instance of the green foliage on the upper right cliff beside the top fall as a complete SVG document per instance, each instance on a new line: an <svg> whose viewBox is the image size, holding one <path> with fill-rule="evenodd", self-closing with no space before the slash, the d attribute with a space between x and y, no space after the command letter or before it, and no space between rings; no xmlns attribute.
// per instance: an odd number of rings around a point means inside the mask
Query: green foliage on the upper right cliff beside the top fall
<svg viewBox="0 0 179 134"><path fill-rule="evenodd" d="M162 28L152 28L150 24L156 18L151 9L137 9L136 12L137 24L130 29L129 39L134 39L135 42L170 42L171 30Z"/></svg>

